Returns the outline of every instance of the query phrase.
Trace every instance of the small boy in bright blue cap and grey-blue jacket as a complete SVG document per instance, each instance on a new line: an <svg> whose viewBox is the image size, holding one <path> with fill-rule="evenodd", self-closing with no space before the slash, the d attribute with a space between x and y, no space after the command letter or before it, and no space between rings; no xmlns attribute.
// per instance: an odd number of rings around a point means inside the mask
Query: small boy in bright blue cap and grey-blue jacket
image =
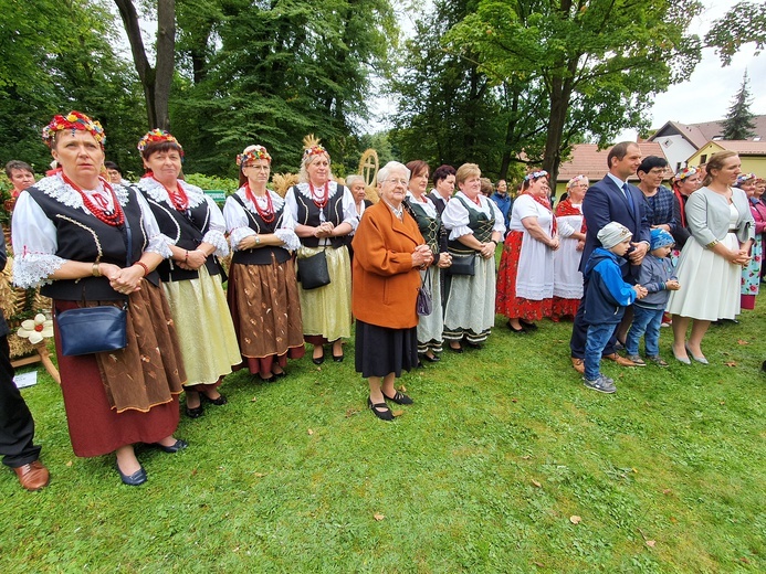
<svg viewBox="0 0 766 574"><path fill-rule="evenodd" d="M652 230L650 252L641 263L639 283L646 287L649 295L633 305L633 325L630 326L625 342L628 359L640 366L647 364L638 354L639 339L642 334L647 360L660 366L668 366L660 357L660 326L670 291L681 288L669 257L674 244L673 236L667 231Z"/></svg>

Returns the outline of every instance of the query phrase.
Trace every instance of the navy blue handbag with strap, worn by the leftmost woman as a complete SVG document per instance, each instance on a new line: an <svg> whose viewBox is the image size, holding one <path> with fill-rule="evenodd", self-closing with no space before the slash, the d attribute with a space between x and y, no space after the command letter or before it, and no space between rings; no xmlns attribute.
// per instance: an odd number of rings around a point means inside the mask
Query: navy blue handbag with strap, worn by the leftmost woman
<svg viewBox="0 0 766 574"><path fill-rule="evenodd" d="M133 265L130 248L133 246L130 223L125 216L126 266ZM84 301L83 301L84 302ZM61 353L65 357L118 351L127 347L127 309L128 302L120 307L99 305L80 307L66 311L54 310Z"/></svg>

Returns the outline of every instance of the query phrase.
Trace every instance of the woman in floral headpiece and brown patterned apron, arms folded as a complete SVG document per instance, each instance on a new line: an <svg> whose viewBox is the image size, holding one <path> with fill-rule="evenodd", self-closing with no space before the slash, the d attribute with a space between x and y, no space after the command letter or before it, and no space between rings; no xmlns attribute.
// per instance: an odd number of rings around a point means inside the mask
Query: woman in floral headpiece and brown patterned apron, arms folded
<svg viewBox="0 0 766 574"><path fill-rule="evenodd" d="M237 156L240 189L223 219L234 255L227 298L242 360L263 381L285 375L287 359L304 354L301 300L290 252L301 242L284 200L266 189L271 156L249 146Z"/></svg>

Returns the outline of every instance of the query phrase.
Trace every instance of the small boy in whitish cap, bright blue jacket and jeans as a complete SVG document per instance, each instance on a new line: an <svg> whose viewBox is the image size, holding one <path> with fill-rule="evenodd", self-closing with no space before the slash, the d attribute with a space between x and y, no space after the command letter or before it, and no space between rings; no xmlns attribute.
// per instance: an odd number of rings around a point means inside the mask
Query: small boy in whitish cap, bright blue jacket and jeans
<svg viewBox="0 0 766 574"><path fill-rule="evenodd" d="M600 393L617 391L615 381L599 371L601 353L622 320L625 308L647 295L640 285L622 279L620 267L628 264L625 255L631 247L632 236L621 223L607 223L597 235L601 246L590 254L583 274L588 286L583 315L588 325L583 381L585 386Z"/></svg>

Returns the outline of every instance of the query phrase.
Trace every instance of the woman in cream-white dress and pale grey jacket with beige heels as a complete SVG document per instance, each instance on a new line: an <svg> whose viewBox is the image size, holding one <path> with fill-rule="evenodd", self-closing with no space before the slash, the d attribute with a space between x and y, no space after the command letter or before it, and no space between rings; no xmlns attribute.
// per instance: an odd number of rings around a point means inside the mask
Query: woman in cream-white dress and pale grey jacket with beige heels
<svg viewBox="0 0 766 574"><path fill-rule="evenodd" d="M668 311L673 313L673 354L685 364L691 362L690 355L707 364L701 343L710 323L734 319L739 312L742 267L751 259L755 227L747 195L732 188L739 166L734 151L713 153L703 188L686 202L692 237L679 258L681 289L673 291L668 301Z"/></svg>

